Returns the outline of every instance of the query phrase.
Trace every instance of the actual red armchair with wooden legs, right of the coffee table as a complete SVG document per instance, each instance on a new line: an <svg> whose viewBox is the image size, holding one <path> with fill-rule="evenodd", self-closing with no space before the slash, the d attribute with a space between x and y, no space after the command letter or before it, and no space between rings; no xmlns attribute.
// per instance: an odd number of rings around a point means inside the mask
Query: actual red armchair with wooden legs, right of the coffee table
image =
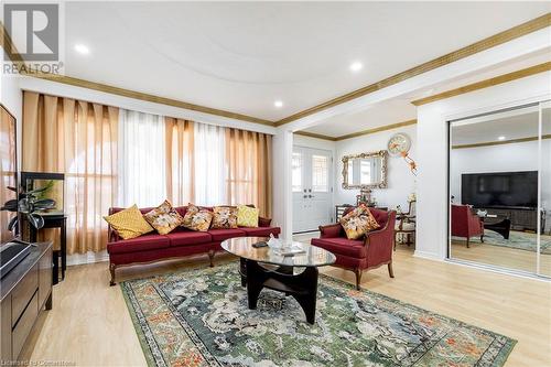
<svg viewBox="0 0 551 367"><path fill-rule="evenodd" d="M321 238L312 239L313 246L324 248L335 255L335 266L354 271L357 290L360 289L359 283L364 270L387 265L390 278L395 278L392 248L395 246L396 212L374 208L370 211L380 228L368 233L363 239L346 238L341 224L320 226Z"/></svg>

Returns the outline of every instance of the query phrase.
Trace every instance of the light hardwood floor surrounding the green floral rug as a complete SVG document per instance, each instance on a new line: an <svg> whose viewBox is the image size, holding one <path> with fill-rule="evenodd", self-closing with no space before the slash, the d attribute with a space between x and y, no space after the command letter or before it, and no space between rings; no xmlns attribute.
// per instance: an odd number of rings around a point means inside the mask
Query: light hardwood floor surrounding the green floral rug
<svg viewBox="0 0 551 367"><path fill-rule="evenodd" d="M551 283L395 252L395 279L386 267L366 272L361 285L518 341L506 366L551 366ZM228 256L217 257L229 260ZM119 280L198 265L206 257L122 269ZM353 282L350 271L324 273ZM106 262L69 267L54 287L53 310L41 317L24 358L77 366L144 366L145 360L119 287L108 287Z"/></svg>

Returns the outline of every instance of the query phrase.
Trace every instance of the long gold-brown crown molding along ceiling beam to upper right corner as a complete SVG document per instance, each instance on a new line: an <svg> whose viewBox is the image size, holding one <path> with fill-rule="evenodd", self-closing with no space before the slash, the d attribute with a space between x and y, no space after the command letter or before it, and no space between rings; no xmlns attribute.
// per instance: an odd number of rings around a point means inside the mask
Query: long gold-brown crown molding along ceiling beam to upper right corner
<svg viewBox="0 0 551 367"><path fill-rule="evenodd" d="M423 63L421 65L414 66L408 71L392 75L388 78L385 78L382 80L379 80L379 82L376 82L376 83L370 84L368 86L365 86L360 89L347 93L341 97L331 99L331 100L325 101L321 105L311 107L311 108L305 109L303 111L300 111L300 112L296 112L296 114L291 115L289 117L285 117L279 121L276 121L276 126L285 125L285 123L299 120L303 117L320 112L320 111L325 110L327 108L335 107L337 105L347 102L347 101L356 99L358 97L371 94L374 91L377 91L377 90L380 90L382 88L389 87L391 85L398 84L400 82L403 82L406 79L412 78L412 77L418 76L420 74L430 72L430 71L435 69L437 67L451 64L453 62L456 62L458 60L474 55L474 54L479 53L482 51L495 47L495 46L500 45L503 43L512 41L512 40L518 39L522 35L539 31L539 30L548 28L550 25L551 25L551 13L547 13L544 15L532 19L526 23L516 25L511 29L508 29L508 30L503 31L500 33L494 34L489 37L482 40L482 41L475 42L468 46L462 47L460 50L456 50L454 52L451 52L451 53L445 54L443 56L440 56L437 58L431 60L431 61Z"/></svg>

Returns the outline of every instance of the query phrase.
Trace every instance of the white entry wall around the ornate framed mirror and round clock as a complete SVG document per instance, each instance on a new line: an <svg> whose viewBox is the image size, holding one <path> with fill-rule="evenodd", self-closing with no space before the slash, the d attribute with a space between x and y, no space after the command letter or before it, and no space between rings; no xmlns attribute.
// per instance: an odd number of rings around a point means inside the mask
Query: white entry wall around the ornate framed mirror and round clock
<svg viewBox="0 0 551 367"><path fill-rule="evenodd" d="M411 138L410 156L417 159L417 128L414 125L403 128L376 132L353 139L337 141L336 143L336 172L335 204L355 204L359 190L343 188L343 156L348 154L386 150L388 139L397 133L404 132ZM378 205L396 208L400 205L408 209L408 195L415 191L415 176L410 172L408 163L402 158L388 158L388 187L372 191L372 196Z"/></svg>

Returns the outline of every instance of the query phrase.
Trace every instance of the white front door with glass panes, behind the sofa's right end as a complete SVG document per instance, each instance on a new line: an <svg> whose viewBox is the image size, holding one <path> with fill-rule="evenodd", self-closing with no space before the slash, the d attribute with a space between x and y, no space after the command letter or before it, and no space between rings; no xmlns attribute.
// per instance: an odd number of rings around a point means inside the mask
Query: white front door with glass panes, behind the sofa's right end
<svg viewBox="0 0 551 367"><path fill-rule="evenodd" d="M293 233L317 230L332 222L331 151L294 147Z"/></svg>

